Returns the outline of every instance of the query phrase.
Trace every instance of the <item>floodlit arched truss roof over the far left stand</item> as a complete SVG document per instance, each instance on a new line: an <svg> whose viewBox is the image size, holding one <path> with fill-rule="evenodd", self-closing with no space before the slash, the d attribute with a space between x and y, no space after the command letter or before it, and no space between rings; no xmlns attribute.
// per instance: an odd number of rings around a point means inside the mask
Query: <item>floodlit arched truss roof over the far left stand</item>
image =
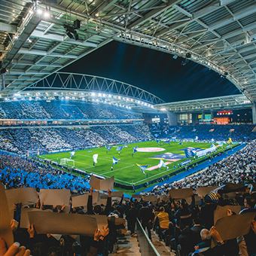
<svg viewBox="0 0 256 256"><path fill-rule="evenodd" d="M103 102L143 113L158 113L154 105L163 100L145 90L95 75L56 72L14 94L0 100L66 99Z"/></svg>

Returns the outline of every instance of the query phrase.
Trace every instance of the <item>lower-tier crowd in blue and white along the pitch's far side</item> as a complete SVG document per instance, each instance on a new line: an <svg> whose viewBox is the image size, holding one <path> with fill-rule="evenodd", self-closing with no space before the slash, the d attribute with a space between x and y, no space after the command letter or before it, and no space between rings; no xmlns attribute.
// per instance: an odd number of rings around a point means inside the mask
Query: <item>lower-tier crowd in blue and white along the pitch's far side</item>
<svg viewBox="0 0 256 256"><path fill-rule="evenodd" d="M27 151L64 151L112 143L150 140L147 125L109 125L62 128L19 128L0 130L0 149L19 154Z"/></svg>

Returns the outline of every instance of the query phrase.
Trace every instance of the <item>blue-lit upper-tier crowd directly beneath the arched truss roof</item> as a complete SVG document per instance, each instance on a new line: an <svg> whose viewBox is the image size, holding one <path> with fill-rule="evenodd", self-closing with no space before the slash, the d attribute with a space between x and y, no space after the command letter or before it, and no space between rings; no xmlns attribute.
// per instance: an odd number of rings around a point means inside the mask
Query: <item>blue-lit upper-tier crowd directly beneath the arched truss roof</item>
<svg viewBox="0 0 256 256"><path fill-rule="evenodd" d="M101 102L72 100L32 100L0 102L0 117L5 119L138 119L133 110Z"/></svg>

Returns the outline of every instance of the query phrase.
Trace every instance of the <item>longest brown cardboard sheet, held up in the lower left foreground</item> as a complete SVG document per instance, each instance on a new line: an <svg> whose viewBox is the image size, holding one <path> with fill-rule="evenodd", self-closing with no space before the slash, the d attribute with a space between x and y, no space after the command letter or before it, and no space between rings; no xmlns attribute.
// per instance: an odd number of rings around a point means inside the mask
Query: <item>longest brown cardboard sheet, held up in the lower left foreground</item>
<svg viewBox="0 0 256 256"><path fill-rule="evenodd" d="M97 228L96 218L57 212L28 212L29 223L38 234L55 233L93 236Z"/></svg>

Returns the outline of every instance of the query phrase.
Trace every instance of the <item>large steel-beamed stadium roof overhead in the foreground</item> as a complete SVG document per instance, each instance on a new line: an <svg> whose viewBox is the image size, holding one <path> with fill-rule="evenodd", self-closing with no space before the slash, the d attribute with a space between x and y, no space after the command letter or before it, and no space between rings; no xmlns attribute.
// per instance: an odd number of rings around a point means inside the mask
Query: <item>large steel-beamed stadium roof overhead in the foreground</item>
<svg viewBox="0 0 256 256"><path fill-rule="evenodd" d="M22 90L117 40L208 66L256 100L254 0L2 0L0 5L5 92ZM75 40L66 30L77 19Z"/></svg>

